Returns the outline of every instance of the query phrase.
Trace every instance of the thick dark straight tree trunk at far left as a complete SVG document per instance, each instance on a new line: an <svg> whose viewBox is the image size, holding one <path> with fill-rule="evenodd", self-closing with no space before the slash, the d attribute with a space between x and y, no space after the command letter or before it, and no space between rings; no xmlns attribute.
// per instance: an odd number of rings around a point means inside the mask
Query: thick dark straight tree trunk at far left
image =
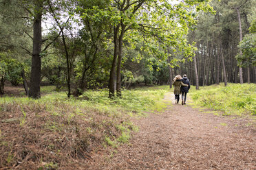
<svg viewBox="0 0 256 170"><path fill-rule="evenodd" d="M32 51L32 66L31 66L31 77L30 77L30 90L29 97L33 99L39 99L40 94L40 83L41 83L41 45L42 45L42 8L43 4L39 2L36 5L36 16L34 17L33 23L33 51Z"/></svg>

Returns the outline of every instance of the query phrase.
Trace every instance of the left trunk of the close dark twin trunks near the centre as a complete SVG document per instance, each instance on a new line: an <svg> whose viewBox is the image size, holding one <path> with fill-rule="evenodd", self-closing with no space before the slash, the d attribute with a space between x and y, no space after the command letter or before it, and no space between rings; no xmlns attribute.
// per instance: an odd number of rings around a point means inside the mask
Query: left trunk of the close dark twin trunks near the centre
<svg viewBox="0 0 256 170"><path fill-rule="evenodd" d="M120 25L114 27L114 58L112 61L111 71L109 75L109 98L115 96L115 80L116 80L116 59L118 56L118 30Z"/></svg>

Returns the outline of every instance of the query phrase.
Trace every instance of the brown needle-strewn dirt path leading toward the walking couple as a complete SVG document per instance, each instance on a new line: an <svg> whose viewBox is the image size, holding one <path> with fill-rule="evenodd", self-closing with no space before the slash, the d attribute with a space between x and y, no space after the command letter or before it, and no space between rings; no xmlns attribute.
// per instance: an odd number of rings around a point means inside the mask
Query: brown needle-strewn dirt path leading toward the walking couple
<svg viewBox="0 0 256 170"><path fill-rule="evenodd" d="M256 169L256 128L244 119L173 104L134 123L130 144L89 169Z"/></svg>

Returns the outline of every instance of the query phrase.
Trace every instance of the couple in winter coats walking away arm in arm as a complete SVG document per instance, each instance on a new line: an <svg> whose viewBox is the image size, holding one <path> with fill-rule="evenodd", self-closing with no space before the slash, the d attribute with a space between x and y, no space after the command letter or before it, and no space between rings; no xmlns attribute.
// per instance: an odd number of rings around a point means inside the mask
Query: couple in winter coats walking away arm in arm
<svg viewBox="0 0 256 170"><path fill-rule="evenodd" d="M174 95L175 95L175 104L178 104L180 101L180 92L182 93L182 105L186 104L186 93L189 93L190 82L186 75L183 75L183 78L180 75L176 75L173 79L174 86Z"/></svg>

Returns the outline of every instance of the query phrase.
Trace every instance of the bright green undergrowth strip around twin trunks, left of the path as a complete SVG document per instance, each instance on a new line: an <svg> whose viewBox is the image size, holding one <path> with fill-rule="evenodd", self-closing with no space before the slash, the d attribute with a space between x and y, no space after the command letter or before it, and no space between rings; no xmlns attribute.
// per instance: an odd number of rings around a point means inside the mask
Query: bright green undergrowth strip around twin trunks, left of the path
<svg viewBox="0 0 256 170"><path fill-rule="evenodd" d="M158 104L158 102L161 103L161 99L164 97L167 89L138 88L124 90L122 98L116 97L115 99L109 99L107 90L87 90L80 97L81 99L86 99L89 102L97 104L100 108L107 104L112 108L142 112L151 109L162 110L165 107L164 104L159 104L157 107L155 104Z"/></svg>

